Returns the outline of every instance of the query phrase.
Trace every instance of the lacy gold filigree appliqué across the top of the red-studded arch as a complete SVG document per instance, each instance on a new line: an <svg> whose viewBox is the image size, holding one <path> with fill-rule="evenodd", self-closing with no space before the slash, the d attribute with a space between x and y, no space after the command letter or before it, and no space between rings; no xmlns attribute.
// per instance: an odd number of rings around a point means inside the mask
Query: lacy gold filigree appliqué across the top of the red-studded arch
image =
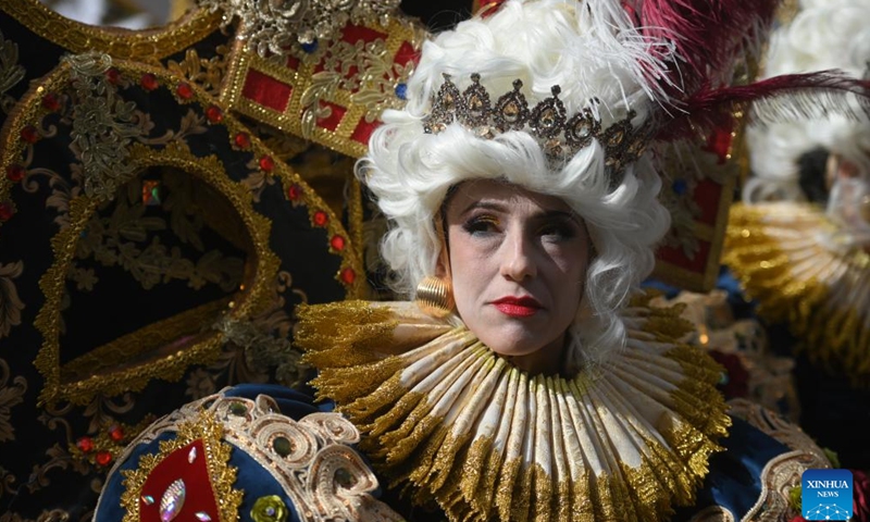
<svg viewBox="0 0 870 522"><path fill-rule="evenodd" d="M73 98L73 128L70 149L82 162L85 194L111 199L119 186L135 174L129 145L144 136L135 123L136 104L124 101L105 72L112 66L108 54L67 57Z"/></svg>

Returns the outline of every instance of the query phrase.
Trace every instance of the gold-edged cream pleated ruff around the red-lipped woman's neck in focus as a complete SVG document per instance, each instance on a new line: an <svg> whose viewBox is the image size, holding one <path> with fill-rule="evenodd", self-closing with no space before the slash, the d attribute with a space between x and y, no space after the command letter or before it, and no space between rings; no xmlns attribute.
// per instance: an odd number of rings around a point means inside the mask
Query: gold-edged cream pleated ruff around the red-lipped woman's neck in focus
<svg viewBox="0 0 870 522"><path fill-rule="evenodd" d="M627 346L572 378L519 371L413 303L303 307L296 339L414 502L451 520L661 520L694 501L730 419L679 310L635 304Z"/></svg>

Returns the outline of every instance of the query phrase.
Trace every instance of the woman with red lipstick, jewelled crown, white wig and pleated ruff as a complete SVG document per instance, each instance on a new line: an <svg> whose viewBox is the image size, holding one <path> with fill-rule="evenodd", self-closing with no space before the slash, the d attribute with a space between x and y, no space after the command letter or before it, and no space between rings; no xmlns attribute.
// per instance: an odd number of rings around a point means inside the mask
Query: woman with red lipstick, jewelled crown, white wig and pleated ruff
<svg viewBox="0 0 870 522"><path fill-rule="evenodd" d="M774 2L739 8L508 1L427 41L407 107L384 113L359 164L391 223L395 289L413 300L299 310L313 385L352 426L298 407L279 421L282 403L257 395L274 388L203 399L146 432L139 446L164 437L165 458L129 450L96 520L145 520L163 498L178 511L196 415L233 447L238 480L223 487L245 520L394 520L343 446L356 442L420 507L412 520L792 518L790 492L824 453L749 403L729 411L679 311L639 291L669 225L659 151L759 96L860 87L721 87Z"/></svg>

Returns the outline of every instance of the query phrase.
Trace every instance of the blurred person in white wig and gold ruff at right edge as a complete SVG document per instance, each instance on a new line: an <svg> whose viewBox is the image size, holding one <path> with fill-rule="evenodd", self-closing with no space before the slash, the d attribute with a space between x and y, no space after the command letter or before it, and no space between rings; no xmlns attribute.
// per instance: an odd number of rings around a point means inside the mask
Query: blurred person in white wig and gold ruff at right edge
<svg viewBox="0 0 870 522"><path fill-rule="evenodd" d="M866 77L870 2L800 7L772 34L763 74L837 69ZM840 114L822 121L749 127L753 176L731 212L724 262L759 315L794 336L782 345L794 345L801 363L807 431L844 463L867 468L865 437L850 426L870 417L870 119L860 98L838 104Z"/></svg>

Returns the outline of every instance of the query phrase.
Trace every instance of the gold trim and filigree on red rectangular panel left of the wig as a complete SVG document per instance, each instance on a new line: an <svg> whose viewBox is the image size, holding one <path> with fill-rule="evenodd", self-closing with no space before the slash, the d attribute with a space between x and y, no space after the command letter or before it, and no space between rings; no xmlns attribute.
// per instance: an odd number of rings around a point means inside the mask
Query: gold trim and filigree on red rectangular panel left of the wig
<svg viewBox="0 0 870 522"><path fill-rule="evenodd" d="M353 44L338 37L325 39L313 52L295 52L293 58L299 61L296 69L287 66L286 61L262 58L237 41L221 99L258 122L360 158L368 144L355 139L355 132L361 122L374 122L384 109L405 103L402 89L413 62L396 64L395 60L406 46L419 50L426 35L421 24L400 16L390 17L385 27L368 27L385 36ZM244 95L252 71L290 88L283 109ZM346 112L335 128L325 128L322 119L335 115L333 104Z"/></svg>

